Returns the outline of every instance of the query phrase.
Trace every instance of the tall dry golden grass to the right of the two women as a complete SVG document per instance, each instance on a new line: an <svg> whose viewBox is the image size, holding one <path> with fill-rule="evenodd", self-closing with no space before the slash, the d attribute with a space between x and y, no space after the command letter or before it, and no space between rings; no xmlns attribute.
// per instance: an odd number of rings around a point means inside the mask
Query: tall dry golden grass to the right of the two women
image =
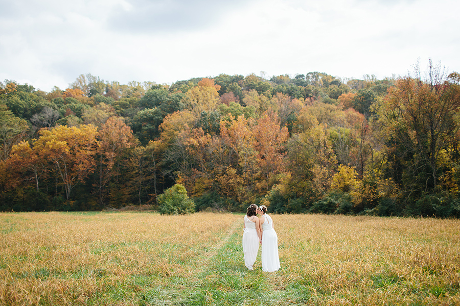
<svg viewBox="0 0 460 306"><path fill-rule="evenodd" d="M285 271L320 304L459 304L460 220L275 215Z"/></svg>

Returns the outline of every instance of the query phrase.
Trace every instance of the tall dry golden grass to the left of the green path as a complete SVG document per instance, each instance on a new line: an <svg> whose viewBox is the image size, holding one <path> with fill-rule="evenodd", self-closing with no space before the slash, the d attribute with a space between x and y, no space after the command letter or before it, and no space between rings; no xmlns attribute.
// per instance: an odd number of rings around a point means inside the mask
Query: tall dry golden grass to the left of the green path
<svg viewBox="0 0 460 306"><path fill-rule="evenodd" d="M133 275L148 277L150 286L193 278L197 256L212 251L232 217L221 223L212 213L0 214L0 303L110 301L103 295L113 296L113 287Z"/></svg>

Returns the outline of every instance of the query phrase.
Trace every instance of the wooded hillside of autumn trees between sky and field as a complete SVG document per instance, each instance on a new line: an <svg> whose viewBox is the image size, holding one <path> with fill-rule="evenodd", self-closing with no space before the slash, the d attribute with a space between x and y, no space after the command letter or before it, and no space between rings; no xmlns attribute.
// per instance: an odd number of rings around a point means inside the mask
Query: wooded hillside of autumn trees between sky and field
<svg viewBox="0 0 460 306"><path fill-rule="evenodd" d="M460 217L460 74L171 85L0 83L0 211L157 208Z"/></svg>

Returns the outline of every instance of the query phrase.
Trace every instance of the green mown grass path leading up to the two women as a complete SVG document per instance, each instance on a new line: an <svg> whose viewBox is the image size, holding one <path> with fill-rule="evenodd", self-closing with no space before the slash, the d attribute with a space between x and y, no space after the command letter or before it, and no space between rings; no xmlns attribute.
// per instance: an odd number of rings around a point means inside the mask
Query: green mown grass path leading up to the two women
<svg viewBox="0 0 460 306"><path fill-rule="evenodd" d="M264 273L260 250L252 271L244 266L241 244L242 224L238 220L210 251L195 259L196 274L171 277L167 286L149 288L137 294L140 305L276 305L301 302L292 300L289 289L279 290L277 273Z"/></svg>

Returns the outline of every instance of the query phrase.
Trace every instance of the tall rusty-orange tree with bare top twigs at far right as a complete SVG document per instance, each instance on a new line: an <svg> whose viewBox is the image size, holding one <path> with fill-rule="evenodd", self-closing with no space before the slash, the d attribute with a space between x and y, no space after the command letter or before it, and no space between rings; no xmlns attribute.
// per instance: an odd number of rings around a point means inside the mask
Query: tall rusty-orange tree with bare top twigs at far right
<svg viewBox="0 0 460 306"><path fill-rule="evenodd" d="M405 77L376 107L385 132L393 177L409 190L430 192L449 169L452 150L458 143L460 86L456 73L444 77L431 62L428 77Z"/></svg>

